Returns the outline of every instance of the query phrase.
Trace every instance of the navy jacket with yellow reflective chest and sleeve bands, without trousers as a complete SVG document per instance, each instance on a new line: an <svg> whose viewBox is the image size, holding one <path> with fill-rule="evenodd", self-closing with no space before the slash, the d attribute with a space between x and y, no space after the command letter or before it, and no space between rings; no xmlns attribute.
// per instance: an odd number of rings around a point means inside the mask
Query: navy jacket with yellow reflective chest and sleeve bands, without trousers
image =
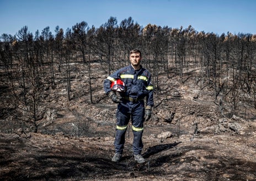
<svg viewBox="0 0 256 181"><path fill-rule="evenodd" d="M108 94L111 82L116 79L121 79L126 86L126 92L122 93L122 96L139 98L142 99L146 97L146 105L153 107L153 85L151 83L151 74L147 69L142 68L140 65L140 70L135 70L132 65L121 68L109 75L108 78L104 80L104 91Z"/></svg>

